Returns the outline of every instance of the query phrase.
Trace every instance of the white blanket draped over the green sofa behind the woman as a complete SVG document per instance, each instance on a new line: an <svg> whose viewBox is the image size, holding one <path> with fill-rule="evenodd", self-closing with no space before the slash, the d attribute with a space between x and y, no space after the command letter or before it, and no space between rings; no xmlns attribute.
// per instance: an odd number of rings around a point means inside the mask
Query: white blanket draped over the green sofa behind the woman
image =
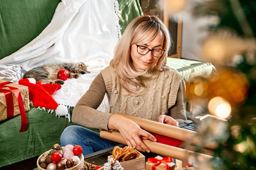
<svg viewBox="0 0 256 170"><path fill-rule="evenodd" d="M44 31L0 64L19 64L28 71L43 64L84 62L92 73L65 81L61 92L54 95L59 104L75 106L113 58L121 36L119 13L116 0L62 0ZM108 110L106 97L99 110Z"/></svg>

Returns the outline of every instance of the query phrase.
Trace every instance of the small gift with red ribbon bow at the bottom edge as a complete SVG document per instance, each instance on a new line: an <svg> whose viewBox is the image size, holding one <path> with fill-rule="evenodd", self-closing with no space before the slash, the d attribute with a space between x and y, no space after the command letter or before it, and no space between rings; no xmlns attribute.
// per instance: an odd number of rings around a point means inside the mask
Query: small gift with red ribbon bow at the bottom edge
<svg viewBox="0 0 256 170"><path fill-rule="evenodd" d="M146 162L146 170L173 170L175 164L172 162L172 157L154 157L148 158Z"/></svg>

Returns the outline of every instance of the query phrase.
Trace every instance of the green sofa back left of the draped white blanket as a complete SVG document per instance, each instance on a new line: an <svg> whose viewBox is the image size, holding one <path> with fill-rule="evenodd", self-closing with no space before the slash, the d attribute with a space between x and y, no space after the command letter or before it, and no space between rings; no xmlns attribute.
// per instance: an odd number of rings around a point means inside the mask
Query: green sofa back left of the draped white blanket
<svg viewBox="0 0 256 170"><path fill-rule="evenodd" d="M0 59L36 38L60 0L0 0Z"/></svg>

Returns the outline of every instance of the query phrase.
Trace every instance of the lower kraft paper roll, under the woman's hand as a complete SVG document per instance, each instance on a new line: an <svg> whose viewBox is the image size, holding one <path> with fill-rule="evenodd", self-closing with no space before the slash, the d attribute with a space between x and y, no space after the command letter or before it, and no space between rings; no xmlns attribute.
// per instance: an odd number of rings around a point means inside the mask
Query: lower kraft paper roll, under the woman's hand
<svg viewBox="0 0 256 170"><path fill-rule="evenodd" d="M122 138L120 132L103 131L102 130L102 131L100 131L100 137L127 145L125 143L124 138ZM212 159L212 157L209 155L205 155L202 153L195 153L195 152L192 152L189 150L184 150L182 148L164 145L162 143L157 143L154 141L143 140L143 142L145 143L145 145L148 146L148 148L150 149L151 152L157 153L159 155L164 155L166 157L173 157L173 158L179 159L179 160L186 160L186 159L188 159L189 155L196 155L196 157L198 159L204 159L204 160Z"/></svg>

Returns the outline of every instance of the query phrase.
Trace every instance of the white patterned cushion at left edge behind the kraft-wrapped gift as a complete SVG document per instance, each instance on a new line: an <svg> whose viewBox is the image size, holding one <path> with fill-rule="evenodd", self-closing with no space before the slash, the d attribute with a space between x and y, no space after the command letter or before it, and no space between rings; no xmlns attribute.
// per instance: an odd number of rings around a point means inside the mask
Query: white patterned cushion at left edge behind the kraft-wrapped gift
<svg viewBox="0 0 256 170"><path fill-rule="evenodd" d="M0 79L18 83L22 78L22 67L19 65L0 64Z"/></svg>

